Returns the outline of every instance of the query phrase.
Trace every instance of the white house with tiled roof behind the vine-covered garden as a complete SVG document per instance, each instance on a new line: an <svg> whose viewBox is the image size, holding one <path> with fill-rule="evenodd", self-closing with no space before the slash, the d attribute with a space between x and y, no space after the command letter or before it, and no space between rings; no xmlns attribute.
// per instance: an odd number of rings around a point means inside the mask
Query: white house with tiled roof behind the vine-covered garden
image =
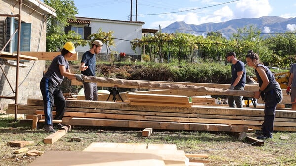
<svg viewBox="0 0 296 166"><path fill-rule="evenodd" d="M131 41L136 38L141 38L143 30L144 33L155 32L152 29L142 29L144 22L140 21L120 21L120 20L107 20L98 18L76 17L77 20L69 20L70 25L65 27L65 32L74 30L79 33L82 38L87 37L92 33L97 33L101 28L103 32L113 31L114 41L116 47L111 47L118 55L125 53L126 56L141 59L141 48L136 51L131 49ZM148 31L150 30L150 31ZM157 30L156 30L157 31ZM81 53L89 50L89 46L77 47L76 50ZM103 46L101 54L106 54L106 45Z"/></svg>

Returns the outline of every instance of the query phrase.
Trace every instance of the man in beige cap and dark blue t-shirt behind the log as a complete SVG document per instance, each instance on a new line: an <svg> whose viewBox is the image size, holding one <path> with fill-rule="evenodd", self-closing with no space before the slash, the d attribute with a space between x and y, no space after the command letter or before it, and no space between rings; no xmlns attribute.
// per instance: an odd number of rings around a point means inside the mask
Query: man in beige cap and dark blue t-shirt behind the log
<svg viewBox="0 0 296 166"><path fill-rule="evenodd" d="M81 74L87 76L96 76L96 54L102 49L103 43L100 40L95 40L89 51L86 51L81 60L79 69ZM97 83L95 82L83 82L85 100L97 101Z"/></svg>

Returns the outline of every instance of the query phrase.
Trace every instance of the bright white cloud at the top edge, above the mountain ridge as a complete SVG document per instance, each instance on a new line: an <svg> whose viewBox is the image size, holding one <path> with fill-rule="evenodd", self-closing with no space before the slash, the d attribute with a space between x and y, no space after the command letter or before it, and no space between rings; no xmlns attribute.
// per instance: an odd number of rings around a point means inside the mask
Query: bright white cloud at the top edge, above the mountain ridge
<svg viewBox="0 0 296 166"><path fill-rule="evenodd" d="M237 18L259 18L271 13L272 7L268 0L241 0L235 7Z"/></svg>

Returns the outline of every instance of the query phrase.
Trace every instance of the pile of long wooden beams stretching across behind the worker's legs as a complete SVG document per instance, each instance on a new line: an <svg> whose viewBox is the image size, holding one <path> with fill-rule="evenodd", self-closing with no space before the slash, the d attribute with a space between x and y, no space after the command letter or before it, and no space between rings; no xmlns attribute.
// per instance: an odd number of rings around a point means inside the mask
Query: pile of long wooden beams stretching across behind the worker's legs
<svg viewBox="0 0 296 166"><path fill-rule="evenodd" d="M17 113L42 116L43 109L42 99L28 99L27 104L18 105ZM14 104L9 104L6 113L14 114ZM67 100L62 123L78 126L247 132L248 128L260 130L263 121L264 110L256 108L239 109L203 105L172 107ZM296 131L295 122L296 111L276 110L274 130Z"/></svg>

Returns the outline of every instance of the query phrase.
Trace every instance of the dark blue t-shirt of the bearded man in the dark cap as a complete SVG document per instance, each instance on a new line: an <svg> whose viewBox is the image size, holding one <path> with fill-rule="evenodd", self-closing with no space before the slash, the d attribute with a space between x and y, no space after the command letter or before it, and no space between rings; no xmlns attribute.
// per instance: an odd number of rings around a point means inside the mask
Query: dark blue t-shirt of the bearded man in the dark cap
<svg viewBox="0 0 296 166"><path fill-rule="evenodd" d="M246 83L246 68L245 68L245 64L239 60L235 64L231 65L231 76L232 76L231 85L234 83L235 79L237 78L237 72L239 71L244 71L244 72L243 72L242 78L240 79L240 81L236 86L244 87Z"/></svg>

